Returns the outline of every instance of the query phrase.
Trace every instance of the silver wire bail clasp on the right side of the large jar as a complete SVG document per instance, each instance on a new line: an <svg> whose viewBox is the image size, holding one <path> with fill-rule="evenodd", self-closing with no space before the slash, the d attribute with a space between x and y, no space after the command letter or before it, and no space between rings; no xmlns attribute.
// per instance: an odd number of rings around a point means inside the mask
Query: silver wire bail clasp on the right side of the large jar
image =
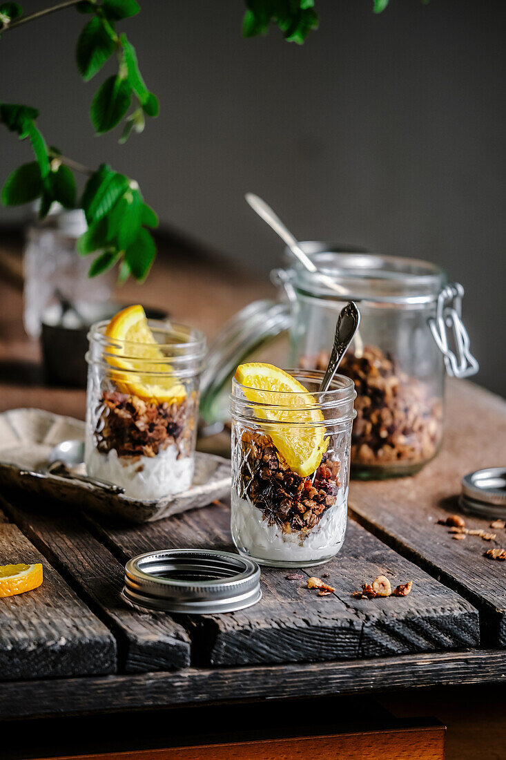
<svg viewBox="0 0 506 760"><path fill-rule="evenodd" d="M479 363L470 352L469 334L462 321L463 294L460 283L444 287L438 296L436 316L429 318L429 327L444 356L446 371L455 378L468 378L479 370ZM453 338L455 351L449 346L448 334Z"/></svg>

